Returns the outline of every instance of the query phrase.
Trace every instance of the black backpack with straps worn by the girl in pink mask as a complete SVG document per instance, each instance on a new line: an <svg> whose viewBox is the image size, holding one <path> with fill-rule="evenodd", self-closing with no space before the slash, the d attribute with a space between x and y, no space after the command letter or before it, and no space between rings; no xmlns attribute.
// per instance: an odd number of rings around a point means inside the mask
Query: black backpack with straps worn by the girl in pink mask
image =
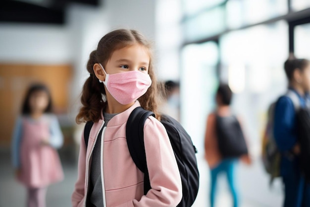
<svg viewBox="0 0 310 207"><path fill-rule="evenodd" d="M151 189L143 133L144 123L149 116L155 117L155 114L144 110L142 107L137 107L130 114L126 126L130 155L136 166L144 172L145 195ZM167 115L162 115L160 122L167 131L181 175L183 197L177 207L191 207L199 189L199 171L196 160L197 149L193 145L191 137L176 120ZM92 126L92 122L86 123L84 130L86 146Z"/></svg>

